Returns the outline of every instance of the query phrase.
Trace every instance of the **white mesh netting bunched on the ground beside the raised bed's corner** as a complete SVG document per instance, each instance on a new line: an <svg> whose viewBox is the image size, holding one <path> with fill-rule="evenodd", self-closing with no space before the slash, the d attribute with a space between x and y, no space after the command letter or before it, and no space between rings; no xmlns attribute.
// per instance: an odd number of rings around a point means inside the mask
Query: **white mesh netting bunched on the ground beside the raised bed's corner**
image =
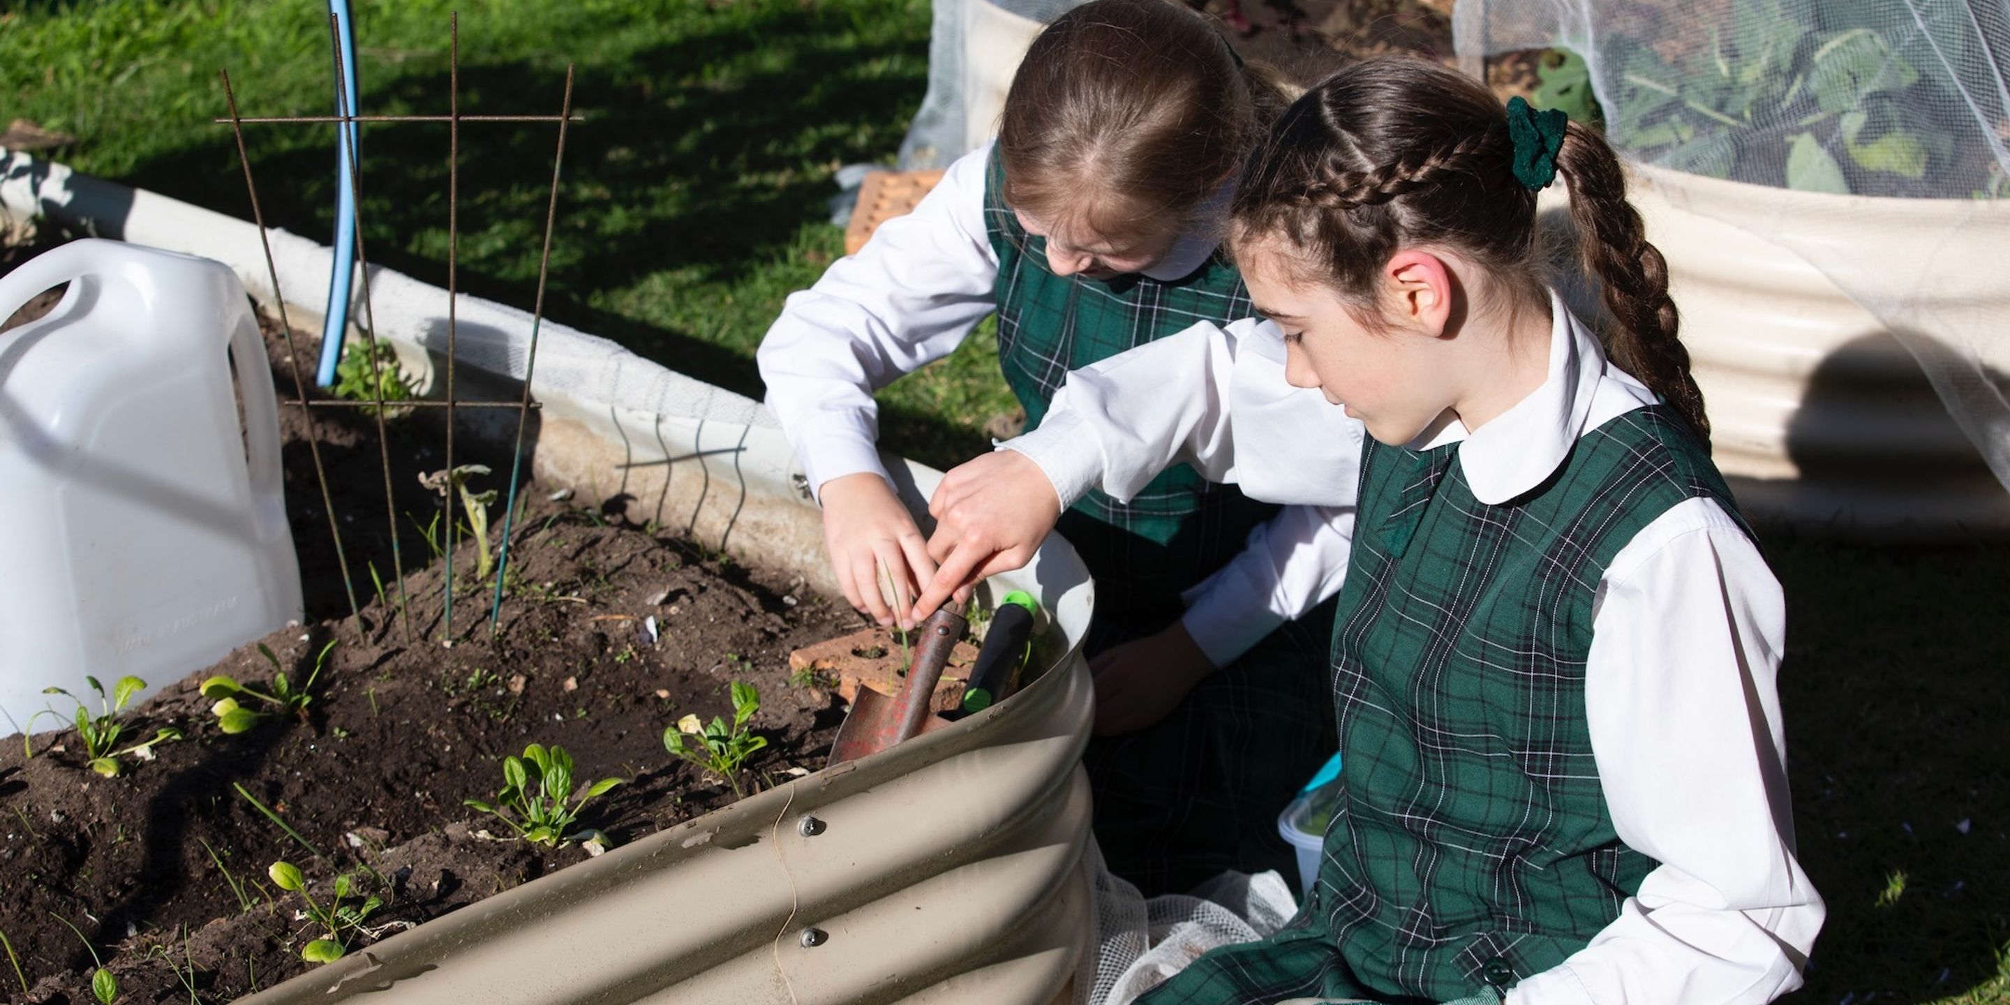
<svg viewBox="0 0 2010 1005"><path fill-rule="evenodd" d="M1075 975L1077 1005L1130 1005L1186 969L1202 953L1262 939L1298 911L1276 872L1222 872L1190 894L1144 898L1138 886L1110 872L1089 840L1081 852L1095 876L1095 953Z"/></svg>

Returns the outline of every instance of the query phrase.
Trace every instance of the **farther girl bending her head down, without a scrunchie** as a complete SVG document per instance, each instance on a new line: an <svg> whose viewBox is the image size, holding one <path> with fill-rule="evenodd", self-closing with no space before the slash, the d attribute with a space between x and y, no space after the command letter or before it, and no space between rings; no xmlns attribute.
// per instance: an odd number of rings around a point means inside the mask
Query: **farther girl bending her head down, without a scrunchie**
<svg viewBox="0 0 2010 1005"><path fill-rule="evenodd" d="M1027 50L995 145L788 297L760 372L854 607L892 623L935 573L874 450L872 392L997 314L999 364L1037 428L1069 370L1248 316L1218 233L1290 96L1178 2L1093 0ZM1345 513L1176 468L1124 500L1087 492L1061 533L1097 585L1085 764L1112 870L1148 892L1294 872L1274 806L1333 750L1331 607L1315 605L1339 589Z"/></svg>

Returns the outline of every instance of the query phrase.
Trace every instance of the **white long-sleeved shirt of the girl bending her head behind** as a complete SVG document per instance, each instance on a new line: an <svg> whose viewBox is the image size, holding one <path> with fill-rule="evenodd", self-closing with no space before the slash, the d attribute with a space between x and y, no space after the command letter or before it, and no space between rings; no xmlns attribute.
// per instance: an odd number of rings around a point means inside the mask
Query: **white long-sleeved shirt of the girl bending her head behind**
<svg viewBox="0 0 2010 1005"><path fill-rule="evenodd" d="M880 223L856 255L790 293L762 340L756 362L768 410L814 492L846 474L886 478L872 392L949 356L993 312L999 261L985 233L989 159L991 145L957 159L913 213ZM1182 237L1146 275L1178 279L1212 253L1210 239ZM1351 535L1351 505L1286 509L1186 591L1186 631L1214 665L1228 665L1339 589Z"/></svg>

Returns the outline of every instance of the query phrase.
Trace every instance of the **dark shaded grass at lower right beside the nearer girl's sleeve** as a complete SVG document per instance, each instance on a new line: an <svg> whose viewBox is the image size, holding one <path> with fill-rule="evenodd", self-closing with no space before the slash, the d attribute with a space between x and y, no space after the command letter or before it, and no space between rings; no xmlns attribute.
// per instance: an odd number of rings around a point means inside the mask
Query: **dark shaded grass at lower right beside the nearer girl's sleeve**
<svg viewBox="0 0 2010 1005"><path fill-rule="evenodd" d="M1829 904L1801 1001L2006 1001L2010 545L1769 535L1801 862Z"/></svg>

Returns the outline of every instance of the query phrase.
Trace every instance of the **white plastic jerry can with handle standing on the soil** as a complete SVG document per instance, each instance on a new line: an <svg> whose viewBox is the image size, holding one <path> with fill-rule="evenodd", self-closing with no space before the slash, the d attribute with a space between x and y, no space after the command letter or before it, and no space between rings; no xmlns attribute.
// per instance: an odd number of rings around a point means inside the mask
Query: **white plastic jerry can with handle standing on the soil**
<svg viewBox="0 0 2010 1005"><path fill-rule="evenodd" d="M96 714L84 675L151 693L301 615L271 370L237 275L72 241L0 277L0 320L58 283L56 310L0 334L8 732L50 708L44 687ZM52 708L38 728L74 712Z"/></svg>

